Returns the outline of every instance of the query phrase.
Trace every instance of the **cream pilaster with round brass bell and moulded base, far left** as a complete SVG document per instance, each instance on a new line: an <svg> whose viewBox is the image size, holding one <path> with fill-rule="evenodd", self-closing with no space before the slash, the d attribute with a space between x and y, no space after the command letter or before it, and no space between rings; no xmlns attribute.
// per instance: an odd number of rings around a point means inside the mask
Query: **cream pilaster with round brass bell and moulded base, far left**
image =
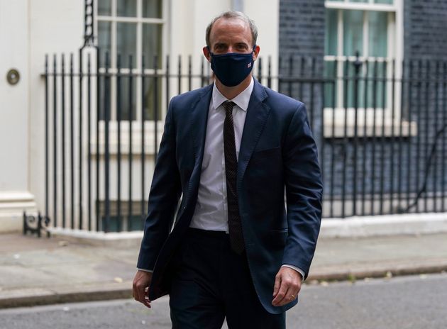
<svg viewBox="0 0 447 329"><path fill-rule="evenodd" d="M0 0L0 232L20 230L34 211L28 191L28 1ZM6 74L16 69L17 84Z"/></svg>

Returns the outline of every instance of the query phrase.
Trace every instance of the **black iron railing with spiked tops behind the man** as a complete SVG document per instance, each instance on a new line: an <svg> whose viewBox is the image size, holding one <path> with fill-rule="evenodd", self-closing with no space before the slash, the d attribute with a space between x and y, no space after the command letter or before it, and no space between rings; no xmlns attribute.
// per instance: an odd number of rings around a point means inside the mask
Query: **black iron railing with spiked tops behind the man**
<svg viewBox="0 0 447 329"><path fill-rule="evenodd" d="M153 69L121 57L110 67L101 54L98 68L99 55L79 54L45 62L45 216L62 228L139 230L165 108L212 82L209 65L166 57L158 67L155 56ZM259 59L254 75L307 105L324 217L446 210L446 62L290 57L273 75Z"/></svg>

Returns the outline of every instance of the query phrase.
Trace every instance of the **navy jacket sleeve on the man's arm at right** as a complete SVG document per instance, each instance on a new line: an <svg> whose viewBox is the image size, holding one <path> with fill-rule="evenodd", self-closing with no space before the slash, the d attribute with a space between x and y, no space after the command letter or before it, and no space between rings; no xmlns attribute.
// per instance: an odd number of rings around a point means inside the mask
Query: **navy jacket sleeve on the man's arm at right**
<svg viewBox="0 0 447 329"><path fill-rule="evenodd" d="M309 274L321 225L323 184L316 143L307 111L299 104L287 130L284 147L287 225L282 264L292 264Z"/></svg>

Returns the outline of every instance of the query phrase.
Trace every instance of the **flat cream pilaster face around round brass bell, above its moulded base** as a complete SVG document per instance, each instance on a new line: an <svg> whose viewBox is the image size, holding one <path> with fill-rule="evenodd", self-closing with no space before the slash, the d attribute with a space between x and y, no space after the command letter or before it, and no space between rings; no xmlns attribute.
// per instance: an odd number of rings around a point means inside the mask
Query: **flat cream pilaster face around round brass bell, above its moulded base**
<svg viewBox="0 0 447 329"><path fill-rule="evenodd" d="M0 191L26 191L28 145L28 4L0 0ZM16 85L6 81L9 69L18 69ZM17 174L16 174L17 173Z"/></svg>

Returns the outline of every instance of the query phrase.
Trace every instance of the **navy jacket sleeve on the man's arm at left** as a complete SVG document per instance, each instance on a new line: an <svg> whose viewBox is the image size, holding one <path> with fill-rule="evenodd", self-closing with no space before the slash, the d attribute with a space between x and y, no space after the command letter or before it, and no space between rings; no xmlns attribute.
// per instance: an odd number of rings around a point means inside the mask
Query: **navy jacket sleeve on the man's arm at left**
<svg viewBox="0 0 447 329"><path fill-rule="evenodd" d="M138 269L153 269L160 249L170 233L181 194L180 174L176 161L175 121L173 102L167 110L165 131L160 142L150 186L148 216L145 218L143 240L138 255Z"/></svg>

